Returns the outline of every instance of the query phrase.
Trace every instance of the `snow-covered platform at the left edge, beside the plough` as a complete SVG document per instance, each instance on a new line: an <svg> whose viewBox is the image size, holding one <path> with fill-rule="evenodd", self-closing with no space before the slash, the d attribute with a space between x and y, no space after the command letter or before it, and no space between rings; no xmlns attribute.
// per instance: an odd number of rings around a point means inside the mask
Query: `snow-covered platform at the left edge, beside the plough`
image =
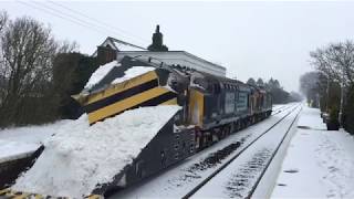
<svg viewBox="0 0 354 199"><path fill-rule="evenodd" d="M37 150L44 139L70 122L64 119L53 124L0 129L0 163L27 157Z"/></svg>

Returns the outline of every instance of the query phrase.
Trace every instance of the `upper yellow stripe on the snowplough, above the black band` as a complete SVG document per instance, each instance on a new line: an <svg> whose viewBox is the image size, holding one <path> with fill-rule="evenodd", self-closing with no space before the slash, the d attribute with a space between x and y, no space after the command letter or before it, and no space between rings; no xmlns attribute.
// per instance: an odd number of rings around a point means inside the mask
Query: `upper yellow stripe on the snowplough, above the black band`
<svg viewBox="0 0 354 199"><path fill-rule="evenodd" d="M139 75L139 76L136 76L134 78L131 78L128 81L125 81L125 82L122 82L119 84L115 84L115 85L112 85L111 87L102 91L102 92L98 92L98 93L94 93L94 94L91 94L87 98L87 102L85 103L86 104L92 104L94 102L97 102L97 101L101 101L103 98L106 98L108 96L112 96L114 94L117 94L117 93L121 93L123 91L126 91L126 90L129 90L132 87L135 87L137 85L140 85L140 84L144 84L146 82L149 82L152 80L155 80L157 78L157 74L155 73L155 71L150 71L150 72L147 72L143 75Z"/></svg>

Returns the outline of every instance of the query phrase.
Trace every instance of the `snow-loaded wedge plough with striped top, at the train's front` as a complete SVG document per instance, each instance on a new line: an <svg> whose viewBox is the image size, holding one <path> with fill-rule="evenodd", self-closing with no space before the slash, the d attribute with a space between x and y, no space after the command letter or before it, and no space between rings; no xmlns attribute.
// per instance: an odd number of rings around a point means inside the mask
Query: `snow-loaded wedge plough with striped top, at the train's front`
<svg viewBox="0 0 354 199"><path fill-rule="evenodd" d="M73 96L85 114L46 140L0 198L106 197L189 157L194 134L176 127L188 115L188 83L174 70L132 57L100 66Z"/></svg>

